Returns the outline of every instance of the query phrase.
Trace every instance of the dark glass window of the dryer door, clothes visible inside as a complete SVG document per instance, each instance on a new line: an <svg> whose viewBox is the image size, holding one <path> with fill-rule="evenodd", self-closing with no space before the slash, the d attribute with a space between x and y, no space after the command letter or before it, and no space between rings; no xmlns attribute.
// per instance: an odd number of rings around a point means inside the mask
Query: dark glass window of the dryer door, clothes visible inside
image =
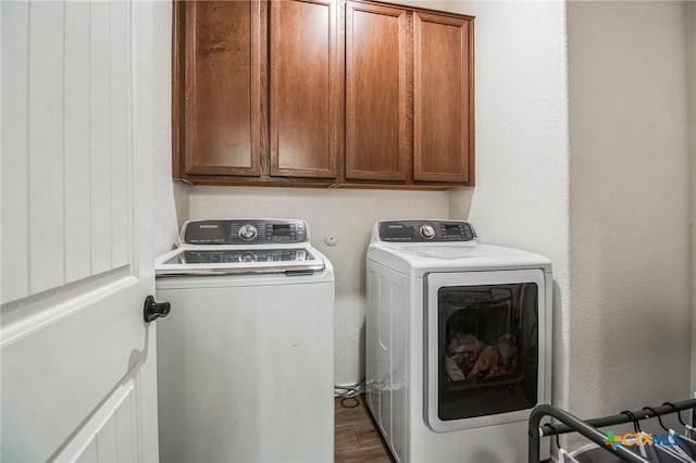
<svg viewBox="0 0 696 463"><path fill-rule="evenodd" d="M439 288L440 420L534 406L537 293L534 283Z"/></svg>

